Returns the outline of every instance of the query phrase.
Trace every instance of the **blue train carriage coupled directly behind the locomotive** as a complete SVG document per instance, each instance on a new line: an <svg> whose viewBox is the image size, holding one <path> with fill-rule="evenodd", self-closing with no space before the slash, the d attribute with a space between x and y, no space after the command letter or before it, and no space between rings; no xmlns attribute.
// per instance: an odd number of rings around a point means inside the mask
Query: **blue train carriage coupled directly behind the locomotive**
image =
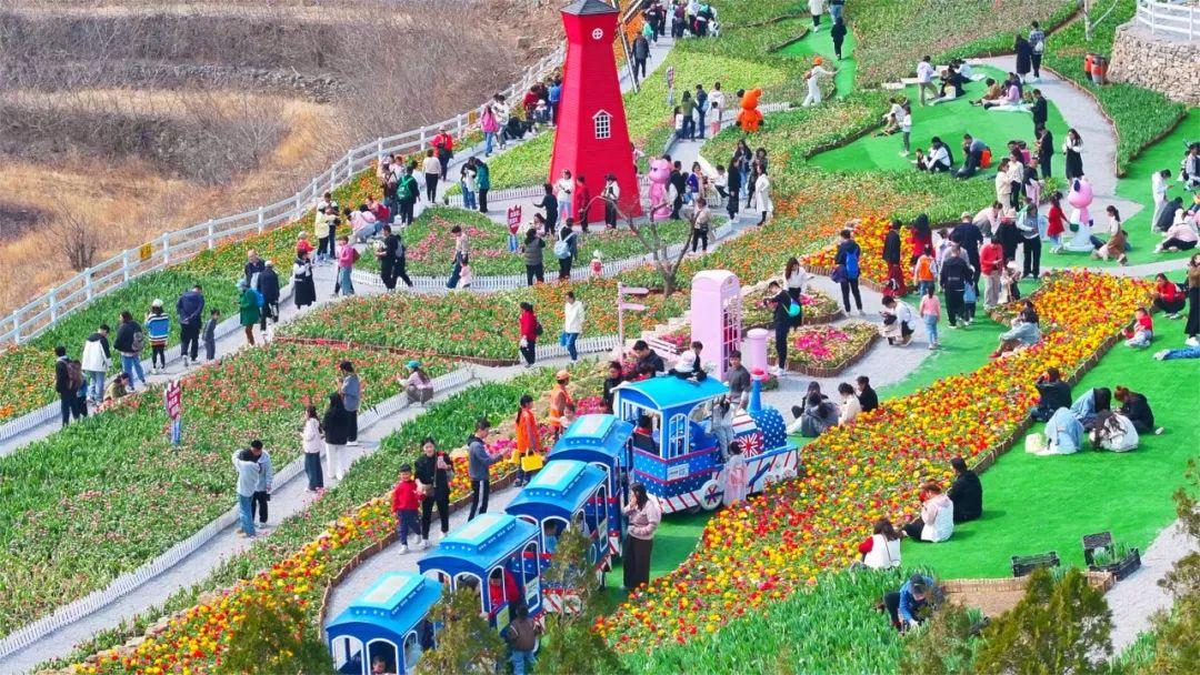
<svg viewBox="0 0 1200 675"><path fill-rule="evenodd" d="M620 556L625 537L622 507L629 500L629 438L634 426L614 415L582 415L554 444L547 462L584 462L601 469L608 484L608 553Z"/></svg>

